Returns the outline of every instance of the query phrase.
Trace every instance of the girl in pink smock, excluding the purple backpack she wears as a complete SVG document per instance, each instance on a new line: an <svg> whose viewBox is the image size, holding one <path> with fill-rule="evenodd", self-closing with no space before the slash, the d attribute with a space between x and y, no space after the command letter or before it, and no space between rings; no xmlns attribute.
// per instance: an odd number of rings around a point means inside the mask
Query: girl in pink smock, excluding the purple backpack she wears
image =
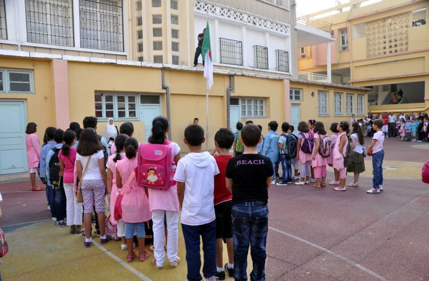
<svg viewBox="0 0 429 281"><path fill-rule="evenodd" d="M311 166L311 153L305 153L302 151L301 146L305 138L310 137L310 129L306 122L301 121L298 124L298 131L301 133L298 134L298 143L296 144L297 156L299 163L301 164L301 180L295 182L298 185L310 184L310 166Z"/></svg>

